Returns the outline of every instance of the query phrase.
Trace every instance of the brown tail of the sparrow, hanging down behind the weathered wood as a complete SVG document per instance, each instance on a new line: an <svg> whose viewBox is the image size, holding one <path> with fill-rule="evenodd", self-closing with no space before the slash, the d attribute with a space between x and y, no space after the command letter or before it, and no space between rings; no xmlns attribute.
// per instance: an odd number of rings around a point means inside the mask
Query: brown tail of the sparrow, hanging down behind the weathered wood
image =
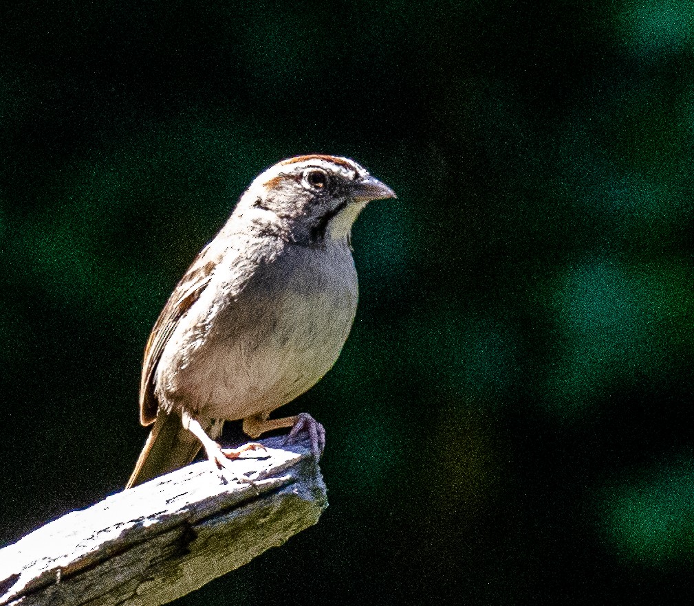
<svg viewBox="0 0 694 606"><path fill-rule="evenodd" d="M188 465L202 444L183 428L180 416L160 410L126 488Z"/></svg>

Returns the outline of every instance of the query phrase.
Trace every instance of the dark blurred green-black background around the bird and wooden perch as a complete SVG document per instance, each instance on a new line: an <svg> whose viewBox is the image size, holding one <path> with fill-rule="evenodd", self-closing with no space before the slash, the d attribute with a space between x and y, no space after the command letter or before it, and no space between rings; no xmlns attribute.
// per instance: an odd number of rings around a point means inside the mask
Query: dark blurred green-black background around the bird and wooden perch
<svg viewBox="0 0 694 606"><path fill-rule="evenodd" d="M25 1L0 17L0 542L120 490L142 351L262 168L353 243L318 526L180 605L663 603L694 563L694 8Z"/></svg>

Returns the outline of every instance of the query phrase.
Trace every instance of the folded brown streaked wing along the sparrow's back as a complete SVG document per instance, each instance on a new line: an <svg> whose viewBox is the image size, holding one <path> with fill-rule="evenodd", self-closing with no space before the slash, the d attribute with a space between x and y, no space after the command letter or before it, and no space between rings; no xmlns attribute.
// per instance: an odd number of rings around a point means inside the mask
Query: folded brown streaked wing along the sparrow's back
<svg viewBox="0 0 694 606"><path fill-rule="evenodd" d="M144 348L142 379L139 384L139 419L143 425L149 425L157 417L158 404L154 397L154 373L162 356L164 347L174 334L178 321L200 298L201 293L210 284L214 268L221 259L223 250L210 242L198 253L192 265L180 279L167 304L154 324L147 345Z"/></svg>

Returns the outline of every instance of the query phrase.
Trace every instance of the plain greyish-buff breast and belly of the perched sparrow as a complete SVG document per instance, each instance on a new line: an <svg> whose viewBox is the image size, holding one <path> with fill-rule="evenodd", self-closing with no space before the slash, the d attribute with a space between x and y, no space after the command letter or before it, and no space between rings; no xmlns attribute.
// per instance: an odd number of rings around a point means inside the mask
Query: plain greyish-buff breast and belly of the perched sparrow
<svg viewBox="0 0 694 606"><path fill-rule="evenodd" d="M220 276L208 306L205 336L174 381L176 399L224 419L273 410L339 356L357 309L350 250L291 247L255 268L240 292Z"/></svg>

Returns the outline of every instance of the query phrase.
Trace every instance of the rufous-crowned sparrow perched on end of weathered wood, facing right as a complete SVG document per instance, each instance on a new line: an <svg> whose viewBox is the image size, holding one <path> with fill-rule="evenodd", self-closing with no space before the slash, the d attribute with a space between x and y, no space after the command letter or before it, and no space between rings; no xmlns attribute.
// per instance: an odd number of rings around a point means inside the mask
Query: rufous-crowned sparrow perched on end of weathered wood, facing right
<svg viewBox="0 0 694 606"><path fill-rule="evenodd" d="M253 180L174 288L147 340L140 422L152 426L126 488L194 460L222 474L255 442L223 449L226 421L252 439L325 429L308 413L270 418L335 364L357 310L350 232L371 200L395 192L346 157L284 159Z"/></svg>

